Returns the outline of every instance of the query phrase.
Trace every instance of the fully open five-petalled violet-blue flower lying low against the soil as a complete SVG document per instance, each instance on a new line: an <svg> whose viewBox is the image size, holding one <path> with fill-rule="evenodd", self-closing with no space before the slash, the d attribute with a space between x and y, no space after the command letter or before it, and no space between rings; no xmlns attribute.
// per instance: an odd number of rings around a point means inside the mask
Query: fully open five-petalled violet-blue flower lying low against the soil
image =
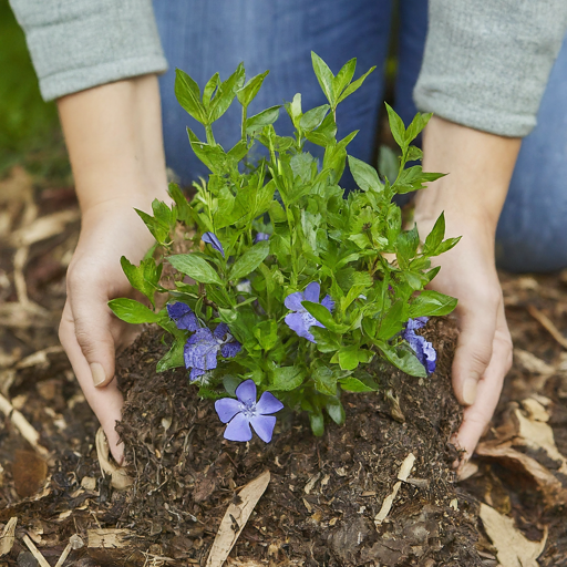
<svg viewBox="0 0 567 567"><path fill-rule="evenodd" d="M276 425L276 416L270 414L279 412L284 404L270 392L264 392L256 402L256 384L252 380L246 380L236 389L236 398L223 398L215 402L218 417L223 423L228 423L225 439L250 441L251 425L258 436L269 443Z"/></svg>

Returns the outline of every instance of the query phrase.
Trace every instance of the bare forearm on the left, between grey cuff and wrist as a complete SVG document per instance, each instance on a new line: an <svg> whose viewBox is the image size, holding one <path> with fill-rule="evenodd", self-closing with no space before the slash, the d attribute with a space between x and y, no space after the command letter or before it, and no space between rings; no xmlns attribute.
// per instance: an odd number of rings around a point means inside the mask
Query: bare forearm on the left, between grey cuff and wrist
<svg viewBox="0 0 567 567"><path fill-rule="evenodd" d="M155 75L71 94L58 106L83 215L109 202L147 209L166 198Z"/></svg>

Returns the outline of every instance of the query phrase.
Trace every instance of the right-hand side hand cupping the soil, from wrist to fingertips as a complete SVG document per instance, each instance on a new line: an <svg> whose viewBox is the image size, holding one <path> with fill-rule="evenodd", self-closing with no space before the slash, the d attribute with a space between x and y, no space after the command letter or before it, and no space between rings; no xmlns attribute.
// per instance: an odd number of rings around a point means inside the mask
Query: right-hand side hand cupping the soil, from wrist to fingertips
<svg viewBox="0 0 567 567"><path fill-rule="evenodd" d="M433 224L424 218L416 220L420 231L422 227L431 230ZM456 399L466 408L453 442L465 451L466 461L496 409L504 378L512 365L513 349L493 260L492 237L471 219L468 226L465 220L458 224L461 241L437 258L441 271L430 287L458 298L454 315L460 334L452 381ZM427 234L425 230L424 235Z"/></svg>

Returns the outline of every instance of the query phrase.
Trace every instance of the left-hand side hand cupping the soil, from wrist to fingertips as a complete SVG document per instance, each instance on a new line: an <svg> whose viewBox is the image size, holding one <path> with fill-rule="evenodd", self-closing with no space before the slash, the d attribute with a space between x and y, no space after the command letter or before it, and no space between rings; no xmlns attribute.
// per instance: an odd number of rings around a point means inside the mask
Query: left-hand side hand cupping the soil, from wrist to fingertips
<svg viewBox="0 0 567 567"><path fill-rule="evenodd" d="M128 199L101 203L83 214L81 236L69 266L68 299L59 337L83 393L99 417L113 457L120 464L123 447L115 431L121 420L122 393L114 379L115 353L132 342L136 328L124 323L107 302L133 297L122 271L121 256L138 264L153 238Z"/></svg>

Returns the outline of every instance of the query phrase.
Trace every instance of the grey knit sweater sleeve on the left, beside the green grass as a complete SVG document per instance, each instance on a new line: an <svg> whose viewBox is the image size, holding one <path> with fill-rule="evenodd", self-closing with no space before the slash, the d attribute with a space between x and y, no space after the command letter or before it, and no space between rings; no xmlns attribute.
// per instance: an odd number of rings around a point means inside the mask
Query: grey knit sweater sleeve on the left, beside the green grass
<svg viewBox="0 0 567 567"><path fill-rule="evenodd" d="M151 0L10 0L43 99L167 69Z"/></svg>

